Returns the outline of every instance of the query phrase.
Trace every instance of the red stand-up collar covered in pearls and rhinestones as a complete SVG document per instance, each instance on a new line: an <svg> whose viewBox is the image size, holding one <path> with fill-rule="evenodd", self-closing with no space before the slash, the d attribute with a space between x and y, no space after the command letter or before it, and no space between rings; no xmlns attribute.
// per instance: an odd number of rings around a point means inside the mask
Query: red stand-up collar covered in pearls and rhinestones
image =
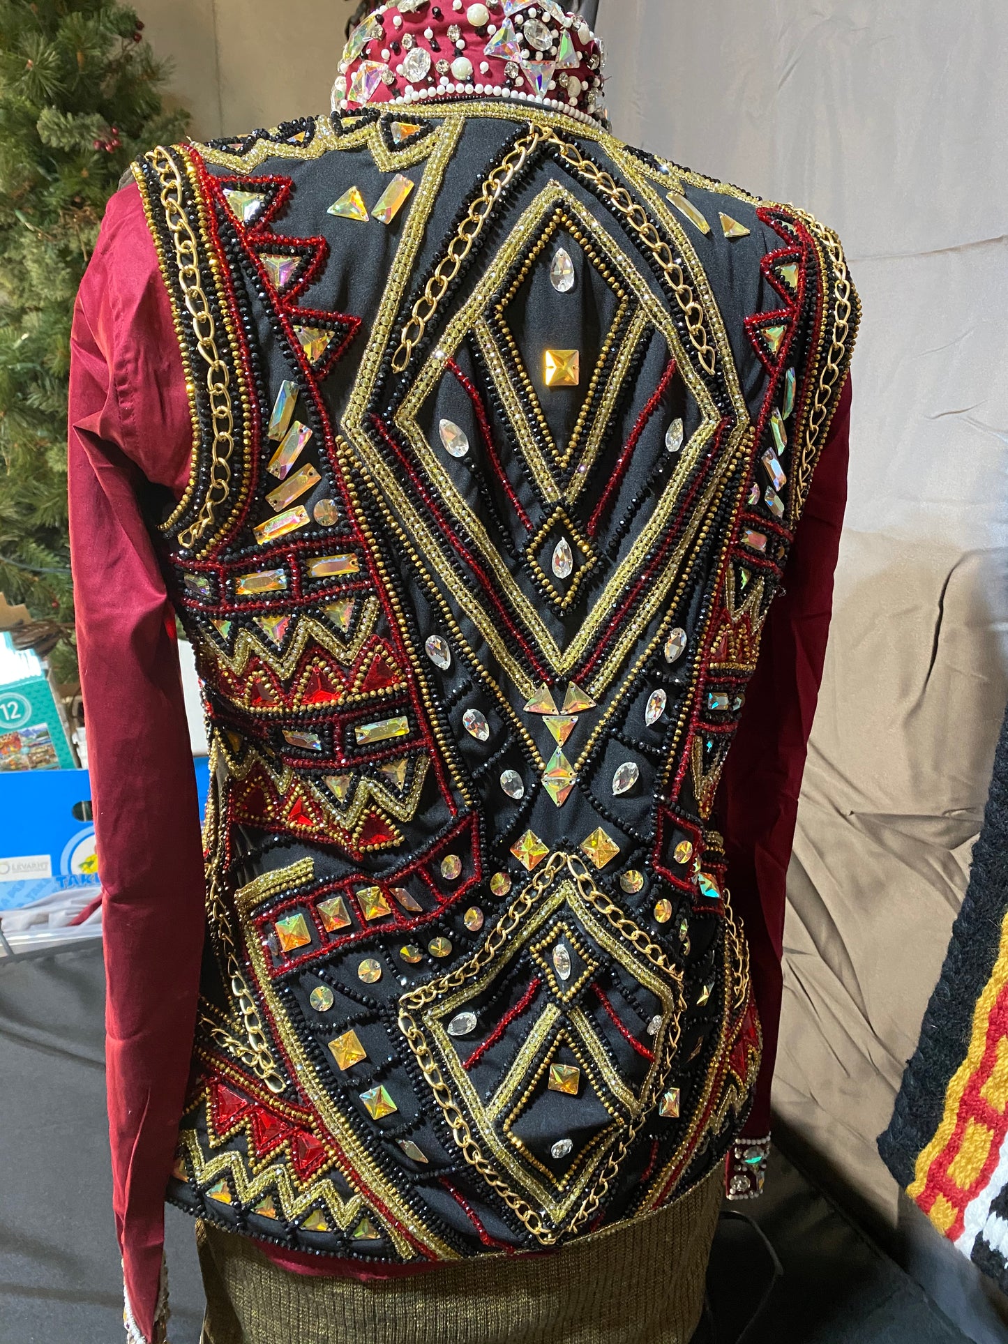
<svg viewBox="0 0 1008 1344"><path fill-rule="evenodd" d="M605 124L602 43L558 0L399 0L349 36L335 112L513 98Z"/></svg>

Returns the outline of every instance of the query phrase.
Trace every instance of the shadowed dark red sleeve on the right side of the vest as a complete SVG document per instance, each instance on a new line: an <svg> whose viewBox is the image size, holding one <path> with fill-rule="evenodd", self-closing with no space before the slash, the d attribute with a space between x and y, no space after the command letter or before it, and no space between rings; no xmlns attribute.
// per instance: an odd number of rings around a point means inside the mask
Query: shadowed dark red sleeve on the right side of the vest
<svg viewBox="0 0 1008 1344"><path fill-rule="evenodd" d="M718 798L731 905L749 938L763 1063L745 1137L770 1133L770 1083L781 1021L788 864L833 609L847 507L851 382L812 477L805 512L770 609L755 675Z"/></svg>

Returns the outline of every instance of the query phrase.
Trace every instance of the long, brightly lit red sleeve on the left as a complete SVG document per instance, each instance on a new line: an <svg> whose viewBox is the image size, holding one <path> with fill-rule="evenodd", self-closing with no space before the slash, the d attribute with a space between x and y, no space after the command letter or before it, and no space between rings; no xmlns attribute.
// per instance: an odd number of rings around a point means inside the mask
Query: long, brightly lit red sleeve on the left
<svg viewBox="0 0 1008 1344"><path fill-rule="evenodd" d="M204 883L175 617L137 487L146 477L179 495L191 448L168 296L130 187L109 206L74 313L69 476L103 888L113 1200L128 1304L149 1341L196 1017Z"/></svg>

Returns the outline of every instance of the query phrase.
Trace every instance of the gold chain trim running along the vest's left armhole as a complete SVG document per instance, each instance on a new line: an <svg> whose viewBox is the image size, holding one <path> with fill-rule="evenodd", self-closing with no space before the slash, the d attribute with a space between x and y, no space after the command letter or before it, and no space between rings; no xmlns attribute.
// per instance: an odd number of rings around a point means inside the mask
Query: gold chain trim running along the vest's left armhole
<svg viewBox="0 0 1008 1344"><path fill-rule="evenodd" d="M192 317L196 349L207 366L207 394L214 425L207 493L196 520L179 534L179 546L183 550L190 550L214 526L216 512L226 503L231 491L231 456L234 454L231 374L220 359L216 345L216 323L200 282L196 234L183 208L183 181L179 167L172 156L160 146L151 151L146 157L161 183L161 207L175 243L179 288Z"/></svg>

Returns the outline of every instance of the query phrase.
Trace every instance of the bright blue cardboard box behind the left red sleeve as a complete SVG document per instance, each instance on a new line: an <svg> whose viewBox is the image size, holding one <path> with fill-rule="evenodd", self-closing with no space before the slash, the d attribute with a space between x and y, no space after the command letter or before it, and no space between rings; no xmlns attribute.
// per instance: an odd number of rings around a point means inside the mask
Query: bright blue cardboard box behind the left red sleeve
<svg viewBox="0 0 1008 1344"><path fill-rule="evenodd" d="M198 758L195 767L202 809L207 759ZM0 910L70 887L90 884L97 895L98 867L87 770L0 770Z"/></svg>

